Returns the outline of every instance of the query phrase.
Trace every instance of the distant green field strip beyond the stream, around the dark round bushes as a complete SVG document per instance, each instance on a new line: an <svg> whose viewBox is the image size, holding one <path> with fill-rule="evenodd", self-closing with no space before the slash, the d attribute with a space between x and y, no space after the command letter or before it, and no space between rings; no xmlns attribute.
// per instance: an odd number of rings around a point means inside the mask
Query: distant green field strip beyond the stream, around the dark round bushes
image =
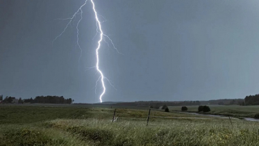
<svg viewBox="0 0 259 146"><path fill-rule="evenodd" d="M259 106L219 106L219 105L208 105L210 106L210 114L213 115L230 115L233 117L254 117L256 113L259 113ZM181 111L182 106L170 106L171 111ZM187 106L190 112L197 112L198 106Z"/></svg>

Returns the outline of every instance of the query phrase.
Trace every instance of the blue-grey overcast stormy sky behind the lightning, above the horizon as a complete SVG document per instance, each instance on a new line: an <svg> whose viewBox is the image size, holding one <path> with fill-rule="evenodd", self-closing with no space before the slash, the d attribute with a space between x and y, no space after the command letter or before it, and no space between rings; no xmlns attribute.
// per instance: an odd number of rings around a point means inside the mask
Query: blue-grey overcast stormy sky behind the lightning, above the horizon
<svg viewBox="0 0 259 146"><path fill-rule="evenodd" d="M0 0L0 94L63 95L99 102L94 93L96 33L92 3L59 35L84 0ZM107 19L100 67L103 102L244 98L259 92L259 1L95 0ZM101 18L102 21L104 20ZM93 39L94 38L94 39ZM100 83L99 83L100 85Z"/></svg>

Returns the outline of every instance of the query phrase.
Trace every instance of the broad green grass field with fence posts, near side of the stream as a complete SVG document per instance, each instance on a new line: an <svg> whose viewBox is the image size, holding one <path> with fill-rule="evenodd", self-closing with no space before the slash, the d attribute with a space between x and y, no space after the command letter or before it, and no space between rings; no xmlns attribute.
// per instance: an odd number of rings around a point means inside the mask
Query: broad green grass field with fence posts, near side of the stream
<svg viewBox="0 0 259 146"><path fill-rule="evenodd" d="M240 107L249 112L246 106ZM197 117L172 112L178 108L170 107L170 113L152 109L151 116ZM258 122L235 119L231 125L228 119L150 117L147 126L148 108L117 107L119 121L112 123L113 110L0 106L0 145L259 145Z"/></svg>

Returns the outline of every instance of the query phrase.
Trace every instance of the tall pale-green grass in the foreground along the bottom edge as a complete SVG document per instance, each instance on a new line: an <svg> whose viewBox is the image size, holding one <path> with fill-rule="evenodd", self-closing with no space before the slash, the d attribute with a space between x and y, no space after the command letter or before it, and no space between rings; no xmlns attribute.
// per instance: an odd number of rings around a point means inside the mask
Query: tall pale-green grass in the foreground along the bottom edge
<svg viewBox="0 0 259 146"><path fill-rule="evenodd" d="M6 127L0 145L259 145L257 122L234 120L51 120Z"/></svg>

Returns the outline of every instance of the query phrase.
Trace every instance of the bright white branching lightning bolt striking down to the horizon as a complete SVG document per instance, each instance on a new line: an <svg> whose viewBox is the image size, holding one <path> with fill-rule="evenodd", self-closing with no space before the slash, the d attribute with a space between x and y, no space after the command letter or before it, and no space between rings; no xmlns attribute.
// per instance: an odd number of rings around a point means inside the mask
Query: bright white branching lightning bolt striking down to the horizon
<svg viewBox="0 0 259 146"><path fill-rule="evenodd" d="M78 59L78 62L80 61L81 56L82 56L82 49L81 49L81 46L80 46L80 44L79 44L79 38L78 38L78 35L79 35L78 25L80 24L81 20L83 19L83 10L82 10L82 8L83 8L83 6L85 6L86 2L87 2L87 0L85 0L85 3L83 3L83 5L82 5L80 8L78 8L78 10L76 11L76 13L74 13L74 15L73 15L72 17L65 18L65 19L60 19L60 20L69 20L69 22L68 22L67 25L65 26L65 29L63 29L63 31L62 31L58 36L56 36L56 38L53 40L53 42L56 41L63 33L65 33L65 31L67 30L67 27L69 26L69 24L72 25L72 23L74 23L74 19L76 18L76 15L81 15L81 18L78 20L78 22L77 22L77 24L76 24L76 32L77 32L77 35L76 35L76 37L77 37L76 45L78 46L78 48L79 48L80 51L81 51L80 57L79 57L79 59ZM98 78L98 80L96 81L96 84L95 84L95 93L97 93L97 84L98 84L98 82L101 80L101 86L102 86L102 88L103 88L103 91L101 92L101 95L99 96L99 99L100 99L100 102L103 102L103 101L102 101L102 97L103 97L103 95L104 95L105 92L106 92L106 86L105 86L104 80L106 79L106 80L108 81L108 83L110 83L110 86L112 86L113 88L115 88L115 86L113 86L112 83L111 83L111 81L110 81L108 78L106 78L106 76L103 75L103 72L100 70L100 67L99 67L99 49L101 48L101 42L102 42L102 41L106 42L106 38L108 38L108 40L109 40L110 43L112 44L113 49L115 49L115 50L117 51L117 53L119 53L119 54L122 54L122 53L120 53L120 52L118 51L118 49L115 47L115 44L112 42L112 40L109 38L109 36L103 33L103 30L101 29L101 22L100 22L99 17L98 17L98 16L101 16L101 17L103 17L103 16L102 16L102 15L99 15L99 14L97 13L97 10L95 9L95 4L94 4L94 1L93 1L93 0L91 0L91 3L92 3L92 10L94 11L94 16L95 16L95 19L96 19L96 25L97 25L97 33L94 35L94 38L95 38L96 35L99 33L100 39L98 40L98 46L97 46L97 48L95 49L95 50L96 50L96 51L95 51L95 52L96 52L96 57L97 57L96 66L94 66L94 67L88 67L87 69L96 68L96 69L97 69L97 72L100 74L100 76L99 76L99 78ZM105 18L103 17L103 19L105 19ZM106 21L107 21L107 20L105 19L103 22L106 22ZM94 40L94 38L93 38L93 40ZM52 43L53 43L53 42L52 42ZM107 44L108 47L110 48L109 43L106 42L106 44ZM122 54L122 55L124 55L124 54ZM117 90L117 89L115 88L115 90Z"/></svg>

